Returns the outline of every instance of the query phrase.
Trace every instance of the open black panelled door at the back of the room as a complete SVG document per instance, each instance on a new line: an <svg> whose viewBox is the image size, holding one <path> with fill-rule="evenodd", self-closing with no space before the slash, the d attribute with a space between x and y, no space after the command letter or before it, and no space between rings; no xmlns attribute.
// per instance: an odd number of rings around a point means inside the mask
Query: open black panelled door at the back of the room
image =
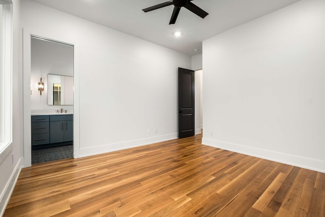
<svg viewBox="0 0 325 217"><path fill-rule="evenodd" d="M194 136L194 71L178 68L178 138Z"/></svg>

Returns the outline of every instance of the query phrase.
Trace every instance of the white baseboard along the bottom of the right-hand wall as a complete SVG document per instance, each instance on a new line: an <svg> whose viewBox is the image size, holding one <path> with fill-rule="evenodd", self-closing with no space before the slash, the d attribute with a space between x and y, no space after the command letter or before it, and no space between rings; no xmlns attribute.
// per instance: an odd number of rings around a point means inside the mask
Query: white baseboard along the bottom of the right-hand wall
<svg viewBox="0 0 325 217"><path fill-rule="evenodd" d="M207 138L202 139L202 144L325 173L325 161Z"/></svg>

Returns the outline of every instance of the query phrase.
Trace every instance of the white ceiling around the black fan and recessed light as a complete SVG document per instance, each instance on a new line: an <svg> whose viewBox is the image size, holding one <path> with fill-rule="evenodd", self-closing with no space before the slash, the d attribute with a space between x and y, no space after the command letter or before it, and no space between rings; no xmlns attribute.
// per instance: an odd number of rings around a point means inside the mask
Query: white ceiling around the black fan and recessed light
<svg viewBox="0 0 325 217"><path fill-rule="evenodd" d="M202 41L300 0L193 0L209 15L202 19L182 8L173 25L174 6L142 11L168 0L32 1L192 56L202 52ZM176 38L176 31L182 36Z"/></svg>

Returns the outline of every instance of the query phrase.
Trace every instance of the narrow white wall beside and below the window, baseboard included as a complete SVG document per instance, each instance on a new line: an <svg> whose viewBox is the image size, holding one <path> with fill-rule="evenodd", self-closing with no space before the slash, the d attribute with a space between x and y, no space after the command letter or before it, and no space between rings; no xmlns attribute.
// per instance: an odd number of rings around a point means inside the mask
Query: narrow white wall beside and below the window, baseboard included
<svg viewBox="0 0 325 217"><path fill-rule="evenodd" d="M0 154L0 215L18 178L23 159L20 0L13 2L13 142Z"/></svg>

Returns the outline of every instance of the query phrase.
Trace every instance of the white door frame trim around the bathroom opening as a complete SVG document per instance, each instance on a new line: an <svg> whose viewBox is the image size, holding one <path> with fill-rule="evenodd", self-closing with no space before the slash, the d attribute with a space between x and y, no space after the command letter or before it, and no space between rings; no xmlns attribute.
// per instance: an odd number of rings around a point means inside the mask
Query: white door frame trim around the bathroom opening
<svg viewBox="0 0 325 217"><path fill-rule="evenodd" d="M23 67L22 67L22 86L23 86L23 157L24 167L31 166L31 127L30 127L30 66L31 66L31 43L30 37L36 36L49 39L63 44L74 46L74 133L73 150L74 158L80 157L80 74L79 74L79 43L75 39L69 38L64 34L55 32L55 29L27 29L23 28Z"/></svg>

